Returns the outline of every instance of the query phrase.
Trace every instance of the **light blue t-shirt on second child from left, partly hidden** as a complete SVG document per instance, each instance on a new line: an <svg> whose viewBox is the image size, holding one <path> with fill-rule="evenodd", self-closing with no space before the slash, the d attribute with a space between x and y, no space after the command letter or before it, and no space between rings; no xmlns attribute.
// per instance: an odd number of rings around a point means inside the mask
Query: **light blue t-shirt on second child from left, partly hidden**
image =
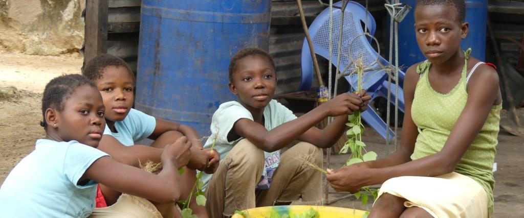
<svg viewBox="0 0 524 218"><path fill-rule="evenodd" d="M124 120L115 122L115 128L118 132L111 132L105 125L104 135L112 135L123 145L131 146L151 135L155 131L156 125L155 117L131 108Z"/></svg>

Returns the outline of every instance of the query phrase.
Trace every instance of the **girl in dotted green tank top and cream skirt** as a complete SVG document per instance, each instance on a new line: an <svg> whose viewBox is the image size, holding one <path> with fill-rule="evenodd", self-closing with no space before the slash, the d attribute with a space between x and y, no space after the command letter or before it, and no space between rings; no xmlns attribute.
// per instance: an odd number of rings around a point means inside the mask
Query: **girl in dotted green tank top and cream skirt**
<svg viewBox="0 0 524 218"><path fill-rule="evenodd" d="M448 174L457 173L473 182L470 184L478 185L479 193L487 199L483 201L485 205L480 205L487 211L482 216L492 216L495 183L492 167L502 101L498 75L493 67L471 57L471 49L464 52L460 48L461 39L468 32L468 23L464 22L464 1L452 3L417 2L414 12L416 37L428 60L409 67L406 72L403 87L406 108L399 149L386 158L342 167L330 173L326 177L335 190L355 193L369 185L384 183L384 188L391 178L435 177L431 186L422 182L413 186L422 187L421 190L451 192L452 188L446 189L443 185L449 184L444 179ZM442 186L439 181L443 181ZM399 189L411 186L411 183L396 184L402 184ZM421 199L431 198L423 196L424 193L419 193ZM405 202L410 199L402 194L380 194L368 217L439 216L435 214L471 217L476 212L470 205L463 208L460 205L457 213L435 212L451 211L446 207L470 203L467 194L445 193L449 197L439 199L450 199L453 203L431 202L444 207L435 211L416 203L408 208ZM465 198L466 202L455 203L455 198Z"/></svg>

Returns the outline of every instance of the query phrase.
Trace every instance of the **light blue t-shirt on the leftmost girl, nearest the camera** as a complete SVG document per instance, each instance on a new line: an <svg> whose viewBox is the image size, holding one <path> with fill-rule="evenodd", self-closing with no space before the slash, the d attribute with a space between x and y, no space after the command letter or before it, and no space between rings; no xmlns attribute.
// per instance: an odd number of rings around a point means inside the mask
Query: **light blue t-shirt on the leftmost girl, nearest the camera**
<svg viewBox="0 0 524 218"><path fill-rule="evenodd" d="M96 182L79 186L95 160L107 154L77 141L40 139L0 188L2 217L87 217L94 209Z"/></svg>

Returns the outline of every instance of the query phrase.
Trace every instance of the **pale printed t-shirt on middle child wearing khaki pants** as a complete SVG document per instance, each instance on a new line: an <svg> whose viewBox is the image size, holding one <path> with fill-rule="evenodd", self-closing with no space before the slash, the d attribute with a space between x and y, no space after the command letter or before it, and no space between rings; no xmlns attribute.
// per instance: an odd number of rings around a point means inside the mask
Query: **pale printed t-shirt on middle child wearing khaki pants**
<svg viewBox="0 0 524 218"><path fill-rule="evenodd" d="M252 114L244 108L237 101L229 101L220 105L219 109L213 114L211 120L211 137L206 141L204 148L210 148L216 137L215 149L220 153L220 160L222 161L227 153L231 151L233 146L238 141L244 139L241 137L235 141L227 141L227 134L233 129L233 125L239 119L247 118L253 120ZM291 110L281 105L276 100L271 100L264 108L264 127L268 131L278 127L278 125L297 119ZM280 151L264 152L265 164L264 171L262 171L262 178L258 182L257 189L268 189L271 184L271 177L280 163ZM208 182L212 175L203 174L202 181L204 182L204 189L208 186Z"/></svg>

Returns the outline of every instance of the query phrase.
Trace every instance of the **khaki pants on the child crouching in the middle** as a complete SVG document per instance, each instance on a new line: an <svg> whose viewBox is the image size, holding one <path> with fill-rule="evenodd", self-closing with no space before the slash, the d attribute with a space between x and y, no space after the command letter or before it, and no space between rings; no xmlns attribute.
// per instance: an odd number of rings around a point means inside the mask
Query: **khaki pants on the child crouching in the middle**
<svg viewBox="0 0 524 218"><path fill-rule="evenodd" d="M322 199L322 174L293 157L304 157L322 167L322 150L300 142L281 154L269 189L255 190L264 169L264 151L247 139L239 141L220 163L205 195L211 218L231 216L235 210L271 206L275 202Z"/></svg>

